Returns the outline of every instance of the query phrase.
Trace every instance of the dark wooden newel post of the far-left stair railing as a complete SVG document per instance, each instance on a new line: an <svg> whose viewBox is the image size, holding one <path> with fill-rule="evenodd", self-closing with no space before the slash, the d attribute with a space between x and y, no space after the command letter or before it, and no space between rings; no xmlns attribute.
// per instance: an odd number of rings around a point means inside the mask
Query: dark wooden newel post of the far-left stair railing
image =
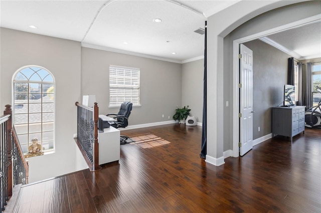
<svg viewBox="0 0 321 213"><path fill-rule="evenodd" d="M6 105L4 115L10 114L7 121L7 150L8 150L8 161L6 162L7 174L8 174L8 197L12 196L13 188L13 176L12 176L12 107L10 104Z"/></svg>

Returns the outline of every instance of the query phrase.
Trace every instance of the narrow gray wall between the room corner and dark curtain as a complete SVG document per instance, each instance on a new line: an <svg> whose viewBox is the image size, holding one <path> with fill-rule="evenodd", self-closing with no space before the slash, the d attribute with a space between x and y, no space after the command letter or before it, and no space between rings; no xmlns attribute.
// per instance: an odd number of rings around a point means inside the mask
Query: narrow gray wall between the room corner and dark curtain
<svg viewBox="0 0 321 213"><path fill-rule="evenodd" d="M197 122L203 118L204 59L182 64L182 105L189 105Z"/></svg>

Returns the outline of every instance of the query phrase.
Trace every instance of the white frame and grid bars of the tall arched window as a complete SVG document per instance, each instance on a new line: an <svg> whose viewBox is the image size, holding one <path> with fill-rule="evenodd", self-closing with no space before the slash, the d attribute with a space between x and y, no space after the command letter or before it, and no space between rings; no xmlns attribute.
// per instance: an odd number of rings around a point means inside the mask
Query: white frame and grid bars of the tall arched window
<svg viewBox="0 0 321 213"><path fill-rule="evenodd" d="M30 68L31 70L34 71L34 73L30 74L29 78L27 75L25 75L22 71L25 69ZM33 68L37 68L37 71L35 71ZM41 74L38 74L38 71L44 70L45 72L48 72L47 75L45 76L40 76ZM30 70L29 70L30 71ZM26 79L17 79L18 75L22 73ZM32 76L37 73L40 80L31 80ZM50 76L49 76L50 75ZM46 77L49 76L49 81L45 80ZM21 83L21 84L27 84L27 91L16 91L16 85L17 83ZM38 84L38 91L32 91L31 90L31 84ZM44 85L48 85L49 87L44 87ZM50 86L51 85L51 86ZM50 87L53 86L53 91L48 92L48 89ZM44 89L46 89L46 91L44 91ZM17 101L19 99L16 99L16 94L26 94L26 99L22 99L25 100L26 103L28 104L27 106L27 112L19 112L17 109L18 107L16 107L16 104L21 104L19 102L21 101ZM36 101L30 101L33 100L30 98L30 95L32 94L39 94L40 95L40 99L35 99ZM46 101L46 99L44 98L44 94L47 94L45 96L49 96L48 94L52 94L53 95L53 99L52 100L48 100ZM50 96L49 96L50 98ZM28 147L32 144L32 138L34 136L32 135L40 135L40 138L38 138L38 143L42 145L42 151L44 154L49 154L49 153L54 153L55 152L55 132L56 132L56 128L55 128L55 117L56 117L56 81L55 81L55 77L54 75L45 67L42 66L38 66L38 65L27 65L27 66L23 66L21 68L19 68L13 75L12 78L12 102L13 102L13 124L15 124L16 130L17 130L17 134L18 137L19 135L21 135L21 137L19 138L21 146L23 148L24 154L28 153ZM39 100L39 101L37 101ZM24 102L24 101L22 101ZM23 104L26 104L23 103ZM34 110L36 111L31 111L32 107L31 105L34 105L36 108L34 108ZM38 105L38 106L37 106ZM40 107L39 107L40 105ZM44 107L45 105L48 105L46 108ZM18 111L18 112L17 112ZM46 121L44 115L48 113L49 115L49 119L48 121ZM16 123L15 118L19 115L19 114L26 114L27 115L27 122L22 122L22 123ZM33 122L31 121L32 116L30 116L31 114L40 114L41 120L40 122ZM50 117L51 116L51 117ZM49 130L45 129L45 125L49 125L50 128ZM23 126L23 125L27 125L27 126ZM38 125L36 128L37 130L32 130L32 125ZM25 130L23 131L19 131L18 126L25 128ZM40 129L40 130L39 130ZM48 134L48 135L46 135ZM49 137L49 139L44 139L46 136ZM21 138L27 137L27 139L22 140ZM50 138L52 137L52 138ZM27 141L25 141L27 140ZM47 145L48 143L48 147L44 148L44 145ZM51 148L52 147L52 148ZM24 150L25 149L25 150Z"/></svg>

